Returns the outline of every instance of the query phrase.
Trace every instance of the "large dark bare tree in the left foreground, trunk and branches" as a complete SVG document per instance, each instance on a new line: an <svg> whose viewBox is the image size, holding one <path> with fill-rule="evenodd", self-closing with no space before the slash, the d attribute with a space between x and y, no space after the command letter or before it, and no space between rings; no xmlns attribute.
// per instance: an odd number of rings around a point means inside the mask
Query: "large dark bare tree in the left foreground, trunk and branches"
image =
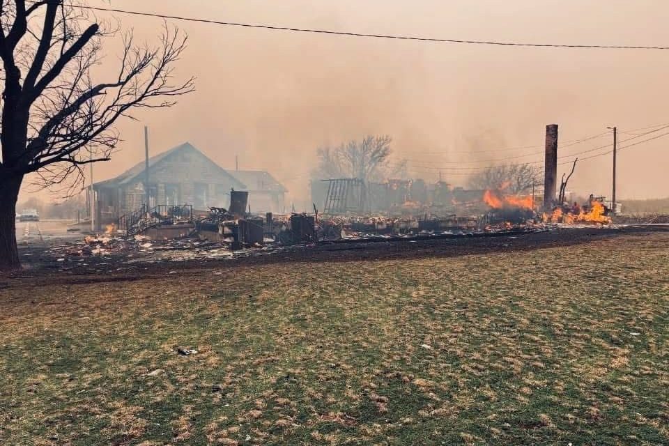
<svg viewBox="0 0 669 446"><path fill-rule="evenodd" d="M80 183L84 164L112 155L118 118L170 107L194 88L193 78L174 83L186 38L167 25L156 47L134 45L132 31L122 33L116 75L93 82L102 41L116 32L79 6L86 3L0 0L0 270L20 266L15 213L26 175L41 187Z"/></svg>

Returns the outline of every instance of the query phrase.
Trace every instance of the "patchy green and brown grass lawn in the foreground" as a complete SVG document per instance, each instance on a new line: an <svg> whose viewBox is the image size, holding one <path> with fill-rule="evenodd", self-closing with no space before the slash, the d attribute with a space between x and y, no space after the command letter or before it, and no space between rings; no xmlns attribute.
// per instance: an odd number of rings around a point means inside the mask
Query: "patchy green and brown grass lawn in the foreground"
<svg viewBox="0 0 669 446"><path fill-rule="evenodd" d="M0 289L0 443L669 443L669 233L175 269Z"/></svg>

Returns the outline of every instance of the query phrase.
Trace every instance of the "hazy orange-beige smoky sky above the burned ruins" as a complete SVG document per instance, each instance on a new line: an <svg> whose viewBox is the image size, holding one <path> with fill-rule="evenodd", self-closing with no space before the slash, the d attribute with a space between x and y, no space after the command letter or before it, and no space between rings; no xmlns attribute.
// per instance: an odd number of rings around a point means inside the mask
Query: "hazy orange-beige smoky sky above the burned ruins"
<svg viewBox="0 0 669 446"><path fill-rule="evenodd" d="M102 0L91 4L109 6ZM656 0L111 4L168 15L360 33L669 46L669 2ZM162 26L155 18L116 17L149 43ZM120 123L121 152L110 162L96 164L95 180L116 176L141 161L144 125L150 128L152 154L190 141L223 167L233 168L238 155L240 169L267 169L300 200L308 198L315 149L364 134L390 134L397 159L410 160L412 176L436 180L437 172L426 167L443 166L443 178L464 185L463 167L525 154L535 155L516 160L541 160L548 123L560 125L563 144L605 132L611 125L626 132L669 124L669 52L454 45L174 23L190 42L176 74L196 76L197 91L172 109L137 114L141 122ZM109 41L107 49L105 63L112 70L118 42ZM621 140L629 137L620 134ZM608 142L609 136L594 139L562 148L559 155ZM528 145L538 147L464 153ZM620 151L618 197L669 196L668 147L666 137ZM560 167L560 175L564 169ZM610 155L584 160L569 189L610 196L610 178Z"/></svg>

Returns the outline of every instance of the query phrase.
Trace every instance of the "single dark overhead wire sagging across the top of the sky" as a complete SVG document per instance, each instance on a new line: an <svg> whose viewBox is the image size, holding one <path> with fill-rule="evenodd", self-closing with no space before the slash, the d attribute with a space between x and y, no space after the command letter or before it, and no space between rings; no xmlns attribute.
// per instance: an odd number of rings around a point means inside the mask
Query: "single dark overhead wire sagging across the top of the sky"
<svg viewBox="0 0 669 446"><path fill-rule="evenodd" d="M495 40L461 40L461 39L444 39L431 37L417 37L417 36L401 36L393 34L371 34L371 33L353 33L347 31L334 31L328 29L311 29L311 28L292 28L289 26L277 26L266 24L249 24L240 22L222 22L219 20L200 19L194 17L183 17L178 15L166 15L159 13L142 13L139 11L123 10L117 8L101 8L98 6L84 6L84 5L68 5L72 8L89 9L97 11L106 11L109 13L121 13L128 15L141 15L146 17L159 17L162 19L183 20L185 22L199 22L208 24L217 24L224 26L239 26L243 28L258 28L269 29L272 31L291 31L298 33L316 33L316 34L330 34L334 36L349 36L349 37L367 37L367 38L381 38L394 40L417 40L420 42L433 43L455 43L466 45L495 45L502 47L538 47L538 48L571 48L571 49L652 49L652 50L669 50L669 47L664 46L642 46L642 45L568 45L568 44L554 44L554 43L521 43L521 42L499 42Z"/></svg>

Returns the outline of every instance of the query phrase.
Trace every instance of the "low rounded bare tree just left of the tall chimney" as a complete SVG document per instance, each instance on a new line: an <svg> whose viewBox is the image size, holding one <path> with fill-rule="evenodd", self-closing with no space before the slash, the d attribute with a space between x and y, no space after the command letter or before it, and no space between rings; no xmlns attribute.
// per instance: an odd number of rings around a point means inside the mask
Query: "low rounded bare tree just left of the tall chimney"
<svg viewBox="0 0 669 446"><path fill-rule="evenodd" d="M540 185L540 170L532 164L507 164L479 171L469 179L472 189L504 189L512 194L525 194Z"/></svg>

